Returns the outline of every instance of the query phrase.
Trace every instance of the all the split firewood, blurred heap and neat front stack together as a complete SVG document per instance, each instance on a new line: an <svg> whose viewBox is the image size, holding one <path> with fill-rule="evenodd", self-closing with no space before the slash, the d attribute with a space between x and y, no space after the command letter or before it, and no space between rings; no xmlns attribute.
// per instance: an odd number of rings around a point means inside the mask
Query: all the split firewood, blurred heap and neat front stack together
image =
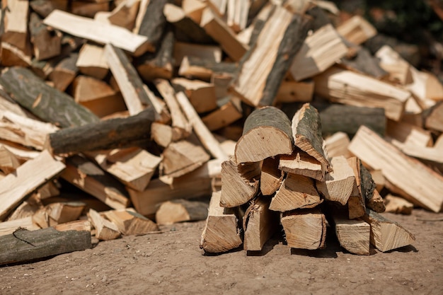
<svg viewBox="0 0 443 295"><path fill-rule="evenodd" d="M442 84L329 1L1 3L0 264L204 219L367 255L442 211Z"/></svg>

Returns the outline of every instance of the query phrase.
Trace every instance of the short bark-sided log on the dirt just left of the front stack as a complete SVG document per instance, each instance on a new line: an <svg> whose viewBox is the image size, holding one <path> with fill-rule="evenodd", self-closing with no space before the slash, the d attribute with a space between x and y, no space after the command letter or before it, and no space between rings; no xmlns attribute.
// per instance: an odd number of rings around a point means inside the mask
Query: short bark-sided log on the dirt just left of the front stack
<svg viewBox="0 0 443 295"><path fill-rule="evenodd" d="M183 221L199 221L207 218L208 204L200 201L176 199L164 202L156 212L157 224L176 224Z"/></svg>

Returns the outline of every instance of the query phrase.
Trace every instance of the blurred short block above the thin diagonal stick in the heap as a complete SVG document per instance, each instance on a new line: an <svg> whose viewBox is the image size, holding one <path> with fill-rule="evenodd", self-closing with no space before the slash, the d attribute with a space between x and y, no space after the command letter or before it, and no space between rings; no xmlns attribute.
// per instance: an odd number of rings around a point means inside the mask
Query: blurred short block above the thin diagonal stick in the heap
<svg viewBox="0 0 443 295"><path fill-rule="evenodd" d="M176 92L183 91L198 113L209 112L217 108L215 88L211 83L184 78L172 79Z"/></svg>

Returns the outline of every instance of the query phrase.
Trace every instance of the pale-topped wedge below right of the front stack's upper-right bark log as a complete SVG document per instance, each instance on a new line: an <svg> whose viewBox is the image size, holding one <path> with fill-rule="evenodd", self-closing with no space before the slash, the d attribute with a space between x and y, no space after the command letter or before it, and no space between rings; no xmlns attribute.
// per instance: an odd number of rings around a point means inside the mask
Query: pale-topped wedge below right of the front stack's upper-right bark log
<svg viewBox="0 0 443 295"><path fill-rule="evenodd" d="M354 171L343 156L332 158L330 163L333 170L326 173L325 181L317 180L318 192L329 201L345 205L356 186Z"/></svg>

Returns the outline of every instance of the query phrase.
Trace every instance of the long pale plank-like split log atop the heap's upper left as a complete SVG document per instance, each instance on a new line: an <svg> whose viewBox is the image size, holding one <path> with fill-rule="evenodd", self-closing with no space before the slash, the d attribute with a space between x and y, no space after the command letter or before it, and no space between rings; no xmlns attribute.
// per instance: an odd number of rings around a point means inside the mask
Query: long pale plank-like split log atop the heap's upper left
<svg viewBox="0 0 443 295"><path fill-rule="evenodd" d="M91 18L75 16L57 9L52 11L43 23L93 42L112 44L115 47L130 52L136 57L144 54L144 52L151 48L150 40L145 35L137 35L117 25L100 23Z"/></svg>

